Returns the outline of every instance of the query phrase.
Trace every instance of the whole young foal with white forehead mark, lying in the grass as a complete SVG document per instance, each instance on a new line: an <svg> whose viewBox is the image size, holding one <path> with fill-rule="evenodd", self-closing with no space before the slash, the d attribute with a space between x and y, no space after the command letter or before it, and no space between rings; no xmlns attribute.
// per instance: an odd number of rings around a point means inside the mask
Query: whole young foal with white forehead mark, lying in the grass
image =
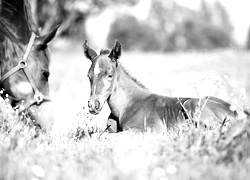
<svg viewBox="0 0 250 180"><path fill-rule="evenodd" d="M164 132L186 119L202 120L210 126L237 117L229 103L215 97L176 98L149 92L119 62L119 41L111 51L102 50L99 55L85 41L84 53L92 62L88 72L91 84L89 111L98 114L107 101L111 110L108 119L111 132L128 129Z"/></svg>

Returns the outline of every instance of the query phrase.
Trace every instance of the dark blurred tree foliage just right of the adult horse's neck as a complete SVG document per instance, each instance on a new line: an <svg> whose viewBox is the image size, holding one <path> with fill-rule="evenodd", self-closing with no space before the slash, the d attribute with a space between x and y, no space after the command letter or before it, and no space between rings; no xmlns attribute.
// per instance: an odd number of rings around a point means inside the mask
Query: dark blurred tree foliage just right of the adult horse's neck
<svg viewBox="0 0 250 180"><path fill-rule="evenodd" d="M138 0L32 0L33 17L42 32L61 24L62 36L84 37L85 22L90 15L118 4L134 5Z"/></svg>

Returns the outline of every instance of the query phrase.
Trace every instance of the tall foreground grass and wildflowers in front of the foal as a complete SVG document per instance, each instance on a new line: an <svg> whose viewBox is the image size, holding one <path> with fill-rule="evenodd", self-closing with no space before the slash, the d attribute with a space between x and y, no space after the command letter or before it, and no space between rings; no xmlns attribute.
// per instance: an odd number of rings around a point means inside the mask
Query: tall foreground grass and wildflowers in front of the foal
<svg viewBox="0 0 250 180"><path fill-rule="evenodd" d="M2 102L6 104L6 102ZM226 132L183 123L165 134L44 133L1 105L0 179L248 179L250 120ZM9 108L8 104L4 108ZM7 125L8 124L8 125Z"/></svg>

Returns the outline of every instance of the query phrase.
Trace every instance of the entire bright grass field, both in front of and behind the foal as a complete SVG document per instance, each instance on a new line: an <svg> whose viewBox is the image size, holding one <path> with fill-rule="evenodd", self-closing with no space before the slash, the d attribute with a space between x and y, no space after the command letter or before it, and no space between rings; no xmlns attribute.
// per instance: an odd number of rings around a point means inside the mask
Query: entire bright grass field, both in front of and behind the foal
<svg viewBox="0 0 250 180"><path fill-rule="evenodd" d="M38 133L1 102L0 180L7 179L249 179L250 126L226 134L183 124L164 135L132 132L91 136L109 109L88 113L90 66L81 44L52 49L50 88L54 131ZM167 96L220 97L248 108L250 53L124 53L121 62L149 90ZM92 128L93 127L93 128ZM101 135L101 136L100 136ZM34 138L36 137L36 138Z"/></svg>

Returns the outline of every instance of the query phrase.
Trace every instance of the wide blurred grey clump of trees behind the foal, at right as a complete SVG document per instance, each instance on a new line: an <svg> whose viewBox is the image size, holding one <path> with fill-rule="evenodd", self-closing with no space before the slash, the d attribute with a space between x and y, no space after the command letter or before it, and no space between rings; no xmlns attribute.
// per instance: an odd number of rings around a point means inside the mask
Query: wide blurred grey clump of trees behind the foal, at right
<svg viewBox="0 0 250 180"><path fill-rule="evenodd" d="M125 50L179 51L210 50L230 47L232 28L224 7L216 2L202 2L199 11L175 2L152 1L148 19L139 22L131 16L121 16L111 26L109 46L115 38Z"/></svg>

